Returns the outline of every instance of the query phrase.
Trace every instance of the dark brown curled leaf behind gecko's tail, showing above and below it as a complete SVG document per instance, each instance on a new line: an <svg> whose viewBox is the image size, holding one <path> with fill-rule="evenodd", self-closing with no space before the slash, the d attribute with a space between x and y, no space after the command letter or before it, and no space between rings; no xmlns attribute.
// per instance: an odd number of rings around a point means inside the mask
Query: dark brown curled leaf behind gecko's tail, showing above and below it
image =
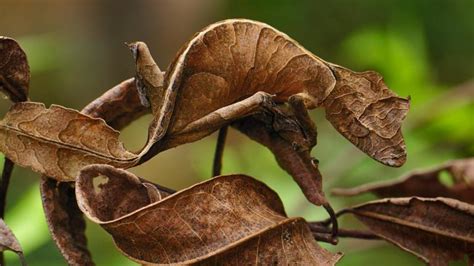
<svg viewBox="0 0 474 266"><path fill-rule="evenodd" d="M140 104L134 79L114 86L92 101L82 113L104 119L116 130L148 111ZM74 188L43 176L41 197L48 228L69 265L94 265L87 249L85 221L76 203Z"/></svg>

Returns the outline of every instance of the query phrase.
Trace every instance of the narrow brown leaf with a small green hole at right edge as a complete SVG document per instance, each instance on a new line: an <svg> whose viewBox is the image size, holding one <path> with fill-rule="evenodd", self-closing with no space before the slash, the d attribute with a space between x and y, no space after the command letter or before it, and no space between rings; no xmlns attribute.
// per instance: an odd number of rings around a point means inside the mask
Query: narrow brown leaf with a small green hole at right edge
<svg viewBox="0 0 474 266"><path fill-rule="evenodd" d="M440 181L440 175L447 172L452 176L453 185ZM366 184L355 188L333 189L339 196L354 196L366 192L378 197L445 197L474 204L474 158L454 160L429 170L418 170L385 182ZM471 182L471 183L470 183Z"/></svg>

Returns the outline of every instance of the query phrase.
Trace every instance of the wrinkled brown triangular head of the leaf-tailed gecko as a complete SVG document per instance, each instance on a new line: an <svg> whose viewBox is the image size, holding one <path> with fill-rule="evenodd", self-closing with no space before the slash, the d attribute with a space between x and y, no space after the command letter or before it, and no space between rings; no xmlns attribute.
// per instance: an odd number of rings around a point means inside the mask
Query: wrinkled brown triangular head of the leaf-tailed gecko
<svg viewBox="0 0 474 266"><path fill-rule="evenodd" d="M327 119L373 159L392 167L403 165L406 147L401 125L409 98L396 95L377 72L331 67L336 86L323 103Z"/></svg>

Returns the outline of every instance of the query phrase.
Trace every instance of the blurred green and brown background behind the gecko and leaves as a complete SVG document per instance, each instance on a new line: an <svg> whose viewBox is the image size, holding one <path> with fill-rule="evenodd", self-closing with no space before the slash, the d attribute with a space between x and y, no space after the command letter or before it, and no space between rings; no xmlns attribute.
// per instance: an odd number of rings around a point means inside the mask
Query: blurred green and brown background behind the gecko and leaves
<svg viewBox="0 0 474 266"><path fill-rule="evenodd" d="M392 90L411 96L403 127L408 161L395 169L371 160L336 133L323 111L313 111L319 131L313 153L329 193L333 187L395 178L414 168L474 155L473 16L472 0L0 0L0 35L17 39L28 54L32 100L75 109L133 76L133 60L124 42L147 42L166 69L195 32L226 18L269 23L327 61L358 71L376 70ZM9 106L7 99L0 99L2 116ZM149 121L144 117L122 132L129 149L144 144ZM166 151L132 171L164 186L185 188L210 177L215 139L213 135ZM224 173L263 180L278 192L291 216L325 218L268 150L232 130ZM64 265L48 233L38 180L38 174L15 168L6 222L23 245L29 265ZM336 209L370 199L330 196ZM344 227L360 226L350 218L341 222ZM100 227L88 223L87 235L98 265L135 265ZM325 247L345 253L340 265L373 265L380 260L384 265L422 265L382 241L343 239L336 247ZM7 259L18 265L14 254Z"/></svg>

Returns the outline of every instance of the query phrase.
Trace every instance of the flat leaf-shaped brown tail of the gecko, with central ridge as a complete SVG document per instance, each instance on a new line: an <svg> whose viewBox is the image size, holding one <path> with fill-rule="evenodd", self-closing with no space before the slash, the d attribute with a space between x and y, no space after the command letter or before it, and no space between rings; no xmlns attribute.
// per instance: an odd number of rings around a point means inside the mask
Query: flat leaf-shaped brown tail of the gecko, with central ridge
<svg viewBox="0 0 474 266"><path fill-rule="evenodd" d="M118 135L104 120L76 110L22 102L0 121L0 150L18 165L59 181L74 181L89 164L134 164L137 156L123 147Z"/></svg>

